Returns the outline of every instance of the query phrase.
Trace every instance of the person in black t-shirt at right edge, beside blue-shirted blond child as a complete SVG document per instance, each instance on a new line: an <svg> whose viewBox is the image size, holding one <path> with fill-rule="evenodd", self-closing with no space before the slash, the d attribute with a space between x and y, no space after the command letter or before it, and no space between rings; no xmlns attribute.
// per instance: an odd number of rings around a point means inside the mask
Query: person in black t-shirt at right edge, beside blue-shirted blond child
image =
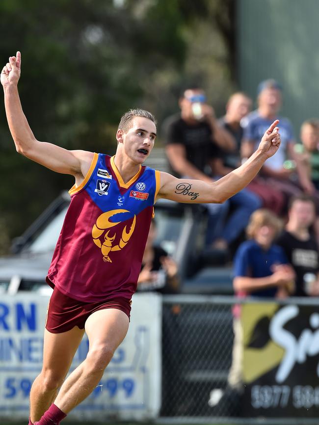
<svg viewBox="0 0 319 425"><path fill-rule="evenodd" d="M296 273L295 296L319 295L318 244L309 231L315 214L311 197L301 195L292 198L286 229L277 239Z"/></svg>

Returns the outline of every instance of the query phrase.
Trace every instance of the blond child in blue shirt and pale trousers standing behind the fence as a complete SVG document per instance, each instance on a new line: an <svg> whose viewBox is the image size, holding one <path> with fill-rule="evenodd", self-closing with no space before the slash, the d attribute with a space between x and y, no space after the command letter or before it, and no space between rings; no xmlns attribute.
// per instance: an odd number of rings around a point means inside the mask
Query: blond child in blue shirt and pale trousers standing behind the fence
<svg viewBox="0 0 319 425"><path fill-rule="evenodd" d="M268 210L255 211L247 226L249 240L243 242L234 259L234 290L239 297L283 298L294 290L294 271L284 250L274 244L281 220ZM240 305L234 307L234 343L228 386L220 403L240 405L242 386L243 331Z"/></svg>

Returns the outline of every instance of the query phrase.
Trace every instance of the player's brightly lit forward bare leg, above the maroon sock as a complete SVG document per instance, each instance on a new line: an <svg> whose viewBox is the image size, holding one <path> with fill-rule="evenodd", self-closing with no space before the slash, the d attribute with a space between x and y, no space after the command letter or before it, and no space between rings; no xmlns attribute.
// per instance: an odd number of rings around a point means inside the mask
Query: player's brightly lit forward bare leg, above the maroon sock
<svg viewBox="0 0 319 425"><path fill-rule="evenodd" d="M89 352L84 362L65 380L54 401L62 412L69 413L92 393L128 328L128 316L117 309L99 310L86 320Z"/></svg>

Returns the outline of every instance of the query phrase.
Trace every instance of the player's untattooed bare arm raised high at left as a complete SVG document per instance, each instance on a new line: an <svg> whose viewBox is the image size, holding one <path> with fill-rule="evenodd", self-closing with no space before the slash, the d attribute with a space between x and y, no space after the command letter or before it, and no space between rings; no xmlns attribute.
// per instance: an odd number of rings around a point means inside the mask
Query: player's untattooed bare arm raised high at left
<svg viewBox="0 0 319 425"><path fill-rule="evenodd" d="M5 112L17 152L53 171L75 176L77 184L80 184L90 167L93 153L68 151L34 137L20 102L20 75L21 53L17 52L16 56L9 57L1 71Z"/></svg>

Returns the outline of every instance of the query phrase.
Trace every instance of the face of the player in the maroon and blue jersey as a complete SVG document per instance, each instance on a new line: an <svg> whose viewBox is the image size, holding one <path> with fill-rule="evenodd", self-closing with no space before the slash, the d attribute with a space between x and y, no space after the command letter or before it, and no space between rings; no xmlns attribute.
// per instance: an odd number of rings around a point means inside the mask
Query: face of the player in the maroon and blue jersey
<svg viewBox="0 0 319 425"><path fill-rule="evenodd" d="M126 133L118 130L116 138L123 143L126 155L133 162L142 164L154 147L156 125L148 118L134 117L131 128Z"/></svg>

